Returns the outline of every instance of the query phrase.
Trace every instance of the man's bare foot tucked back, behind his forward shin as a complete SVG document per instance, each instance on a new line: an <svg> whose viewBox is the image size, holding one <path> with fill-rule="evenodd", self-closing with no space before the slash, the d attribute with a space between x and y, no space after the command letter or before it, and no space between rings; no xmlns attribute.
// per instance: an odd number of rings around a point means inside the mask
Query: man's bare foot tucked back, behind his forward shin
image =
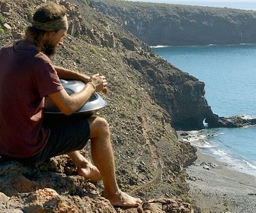
<svg viewBox="0 0 256 213"><path fill-rule="evenodd" d="M85 176L86 179L90 179L92 181L98 181L101 180L101 173L98 170L97 167L95 167L93 164L88 162L86 164L86 167L78 167L78 175Z"/></svg>

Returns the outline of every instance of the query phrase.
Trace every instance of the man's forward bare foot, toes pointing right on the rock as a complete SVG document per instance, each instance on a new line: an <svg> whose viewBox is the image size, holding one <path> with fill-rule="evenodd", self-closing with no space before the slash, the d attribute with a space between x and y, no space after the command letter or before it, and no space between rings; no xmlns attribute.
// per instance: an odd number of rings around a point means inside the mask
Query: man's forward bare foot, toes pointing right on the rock
<svg viewBox="0 0 256 213"><path fill-rule="evenodd" d="M113 206L138 207L142 203L141 199L129 196L122 191L119 191L114 195L107 195L103 192L103 196L105 199L108 199Z"/></svg>

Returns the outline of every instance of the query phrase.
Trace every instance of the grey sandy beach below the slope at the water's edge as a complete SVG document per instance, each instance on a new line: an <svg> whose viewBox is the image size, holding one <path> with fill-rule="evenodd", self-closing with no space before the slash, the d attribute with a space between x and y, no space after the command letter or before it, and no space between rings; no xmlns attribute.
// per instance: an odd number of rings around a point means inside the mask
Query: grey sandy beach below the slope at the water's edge
<svg viewBox="0 0 256 213"><path fill-rule="evenodd" d="M256 212L256 177L231 170L197 148L197 161L185 168L190 196L202 212Z"/></svg>

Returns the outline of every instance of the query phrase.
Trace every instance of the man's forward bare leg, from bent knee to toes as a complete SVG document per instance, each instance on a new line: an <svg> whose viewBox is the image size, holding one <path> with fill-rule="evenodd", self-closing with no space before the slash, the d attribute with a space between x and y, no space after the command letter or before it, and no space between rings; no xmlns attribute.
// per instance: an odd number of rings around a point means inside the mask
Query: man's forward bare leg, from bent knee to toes
<svg viewBox="0 0 256 213"><path fill-rule="evenodd" d="M114 154L107 122L100 117L89 119L91 129L91 156L104 183L104 197L114 206L137 207L142 201L122 192L117 186Z"/></svg>

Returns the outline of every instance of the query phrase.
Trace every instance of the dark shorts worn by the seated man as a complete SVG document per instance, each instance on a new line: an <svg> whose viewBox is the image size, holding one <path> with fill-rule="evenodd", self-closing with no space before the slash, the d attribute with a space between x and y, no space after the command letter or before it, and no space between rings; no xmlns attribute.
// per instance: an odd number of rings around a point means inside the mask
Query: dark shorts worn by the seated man
<svg viewBox="0 0 256 213"><path fill-rule="evenodd" d="M50 128L50 137L42 151L22 159L24 164L35 164L50 157L81 150L90 138L90 126L85 116L46 114L43 126Z"/></svg>

